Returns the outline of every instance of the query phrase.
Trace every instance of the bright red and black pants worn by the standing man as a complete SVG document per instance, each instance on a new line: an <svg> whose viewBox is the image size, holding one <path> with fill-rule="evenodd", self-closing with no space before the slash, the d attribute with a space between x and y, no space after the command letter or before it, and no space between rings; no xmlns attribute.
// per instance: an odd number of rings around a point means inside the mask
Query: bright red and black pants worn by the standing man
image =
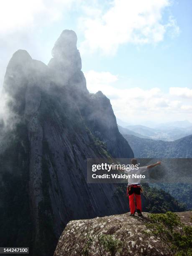
<svg viewBox="0 0 192 256"><path fill-rule="evenodd" d="M136 205L134 201L136 199ZM137 187L131 187L129 191L129 207L131 214L135 213L136 207L138 212L141 212L141 189Z"/></svg>

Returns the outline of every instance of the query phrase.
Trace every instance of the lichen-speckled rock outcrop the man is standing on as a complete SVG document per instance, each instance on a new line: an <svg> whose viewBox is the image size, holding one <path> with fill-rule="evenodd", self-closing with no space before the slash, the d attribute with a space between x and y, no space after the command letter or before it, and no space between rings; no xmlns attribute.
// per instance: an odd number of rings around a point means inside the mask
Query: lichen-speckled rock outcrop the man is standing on
<svg viewBox="0 0 192 256"><path fill-rule="evenodd" d="M177 214L182 223L192 225L191 212L178 212ZM97 236L102 234L113 235L115 239L123 242L121 256L168 255L160 239L145 233L148 214L143 212L143 215L144 217L140 218L131 217L125 213L90 220L72 220L61 234L54 256L81 255L88 237L93 239L89 255L100 256ZM103 255L111 254L106 251Z"/></svg>

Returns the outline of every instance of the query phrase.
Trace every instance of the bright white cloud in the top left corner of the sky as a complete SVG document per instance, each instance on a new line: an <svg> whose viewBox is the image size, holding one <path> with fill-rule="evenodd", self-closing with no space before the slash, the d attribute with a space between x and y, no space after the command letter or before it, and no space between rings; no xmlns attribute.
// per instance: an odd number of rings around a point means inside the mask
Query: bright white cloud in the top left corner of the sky
<svg viewBox="0 0 192 256"><path fill-rule="evenodd" d="M79 0L3 0L0 6L0 33L21 31L62 18L63 12Z"/></svg>

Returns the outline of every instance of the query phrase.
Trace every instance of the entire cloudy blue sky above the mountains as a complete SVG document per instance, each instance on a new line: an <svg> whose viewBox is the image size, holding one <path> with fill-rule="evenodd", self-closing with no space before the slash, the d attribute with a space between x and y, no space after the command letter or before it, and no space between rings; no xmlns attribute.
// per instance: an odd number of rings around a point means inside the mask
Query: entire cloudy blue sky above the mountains
<svg viewBox="0 0 192 256"><path fill-rule="evenodd" d="M191 25L191 0L2 1L0 83L14 51L47 64L73 29L88 90L102 90L118 118L192 122Z"/></svg>

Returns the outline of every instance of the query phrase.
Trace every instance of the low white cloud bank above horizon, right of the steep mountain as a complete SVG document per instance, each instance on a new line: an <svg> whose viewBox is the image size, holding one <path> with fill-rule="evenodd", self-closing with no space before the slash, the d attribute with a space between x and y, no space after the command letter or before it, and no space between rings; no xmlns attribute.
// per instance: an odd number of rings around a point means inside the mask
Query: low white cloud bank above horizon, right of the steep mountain
<svg viewBox="0 0 192 256"><path fill-rule="evenodd" d="M115 115L122 120L128 122L137 118L141 121L154 120L158 123L161 120L182 120L183 118L191 120L191 100L184 99L182 94L179 95L181 96L179 99L178 95L172 95L173 87L168 93L162 92L158 87L150 90L140 87L122 89L119 86L122 81L118 75L94 70L85 73L85 77L87 89L92 93L101 90L110 99Z"/></svg>

